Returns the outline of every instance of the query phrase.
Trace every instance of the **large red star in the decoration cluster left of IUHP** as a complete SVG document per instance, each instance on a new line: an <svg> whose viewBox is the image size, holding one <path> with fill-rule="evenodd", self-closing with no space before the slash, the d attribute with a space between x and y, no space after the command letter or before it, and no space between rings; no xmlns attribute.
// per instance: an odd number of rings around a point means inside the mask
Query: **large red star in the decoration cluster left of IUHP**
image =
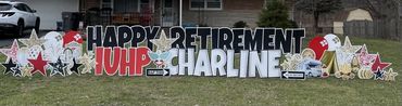
<svg viewBox="0 0 402 106"><path fill-rule="evenodd" d="M45 66L48 65L48 62L43 61L40 52L36 59L28 59L28 61L34 66L34 69L30 71L30 74L34 75L35 72L39 71L42 76L46 76Z"/></svg>

